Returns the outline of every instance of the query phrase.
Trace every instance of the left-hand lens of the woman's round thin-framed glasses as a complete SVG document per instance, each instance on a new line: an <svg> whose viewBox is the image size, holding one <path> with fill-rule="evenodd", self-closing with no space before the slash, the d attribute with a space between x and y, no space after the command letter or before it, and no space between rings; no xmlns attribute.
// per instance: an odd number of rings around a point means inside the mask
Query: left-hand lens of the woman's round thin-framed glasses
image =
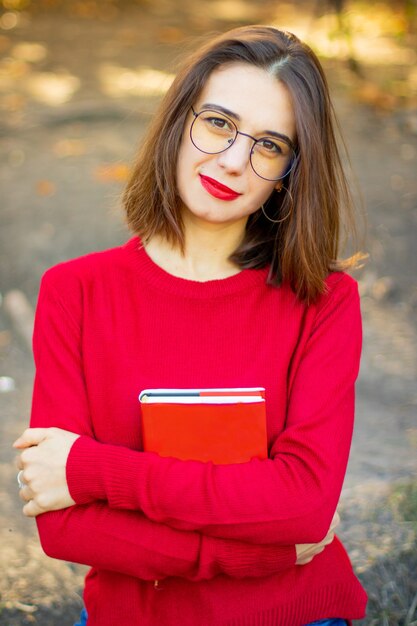
<svg viewBox="0 0 417 626"><path fill-rule="evenodd" d="M202 111L191 126L191 140L196 148L216 154L230 148L237 128L228 117L218 111Z"/></svg>

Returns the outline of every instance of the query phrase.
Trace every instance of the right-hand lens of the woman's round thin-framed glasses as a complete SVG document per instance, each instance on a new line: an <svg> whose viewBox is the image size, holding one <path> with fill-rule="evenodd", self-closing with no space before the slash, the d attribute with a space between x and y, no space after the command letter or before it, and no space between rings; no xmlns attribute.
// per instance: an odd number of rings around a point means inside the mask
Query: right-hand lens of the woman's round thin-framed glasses
<svg viewBox="0 0 417 626"><path fill-rule="evenodd" d="M258 139L251 152L253 169L266 180L284 178L291 171L294 158L291 146L276 137Z"/></svg>

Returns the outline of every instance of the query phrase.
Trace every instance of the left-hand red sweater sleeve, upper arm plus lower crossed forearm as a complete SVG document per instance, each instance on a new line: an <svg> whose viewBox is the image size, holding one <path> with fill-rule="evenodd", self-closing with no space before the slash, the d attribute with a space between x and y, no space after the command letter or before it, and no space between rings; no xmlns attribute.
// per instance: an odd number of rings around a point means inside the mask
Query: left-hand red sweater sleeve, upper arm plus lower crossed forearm
<svg viewBox="0 0 417 626"><path fill-rule="evenodd" d="M80 323L68 313L46 276L35 320L31 426L56 426L93 441L80 335ZM292 567L296 559L294 546L254 546L176 530L139 511L111 509L104 501L45 513L37 524L49 556L144 580L267 576Z"/></svg>

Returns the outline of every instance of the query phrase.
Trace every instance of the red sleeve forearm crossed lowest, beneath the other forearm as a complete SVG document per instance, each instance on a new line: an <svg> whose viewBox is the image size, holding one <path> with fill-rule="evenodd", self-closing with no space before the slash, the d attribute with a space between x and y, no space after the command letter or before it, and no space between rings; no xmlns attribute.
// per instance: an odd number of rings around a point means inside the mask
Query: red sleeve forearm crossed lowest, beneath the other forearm
<svg viewBox="0 0 417 626"><path fill-rule="evenodd" d="M109 509L104 502L44 513L37 524L48 556L142 580L177 576L195 582L219 574L257 578L295 565L292 546L255 546L175 530L142 513Z"/></svg>

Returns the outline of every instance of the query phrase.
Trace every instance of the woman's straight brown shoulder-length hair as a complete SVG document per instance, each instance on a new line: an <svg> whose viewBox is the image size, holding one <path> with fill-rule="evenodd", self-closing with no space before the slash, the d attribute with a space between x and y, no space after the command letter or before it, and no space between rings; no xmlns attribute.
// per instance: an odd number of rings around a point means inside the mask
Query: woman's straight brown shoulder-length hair
<svg viewBox="0 0 417 626"><path fill-rule="evenodd" d="M224 33L188 58L166 93L142 142L123 201L130 228L143 241L162 235L184 250L182 201L176 184L185 121L210 74L219 66L248 63L289 90L296 120L297 155L282 193L268 200L271 222L259 210L231 255L241 268L269 266L268 282L288 282L314 301L329 272L355 265L338 260L342 225L355 233L353 204L335 138L335 118L320 62L295 35L267 26ZM346 219L343 221L343 215Z"/></svg>

